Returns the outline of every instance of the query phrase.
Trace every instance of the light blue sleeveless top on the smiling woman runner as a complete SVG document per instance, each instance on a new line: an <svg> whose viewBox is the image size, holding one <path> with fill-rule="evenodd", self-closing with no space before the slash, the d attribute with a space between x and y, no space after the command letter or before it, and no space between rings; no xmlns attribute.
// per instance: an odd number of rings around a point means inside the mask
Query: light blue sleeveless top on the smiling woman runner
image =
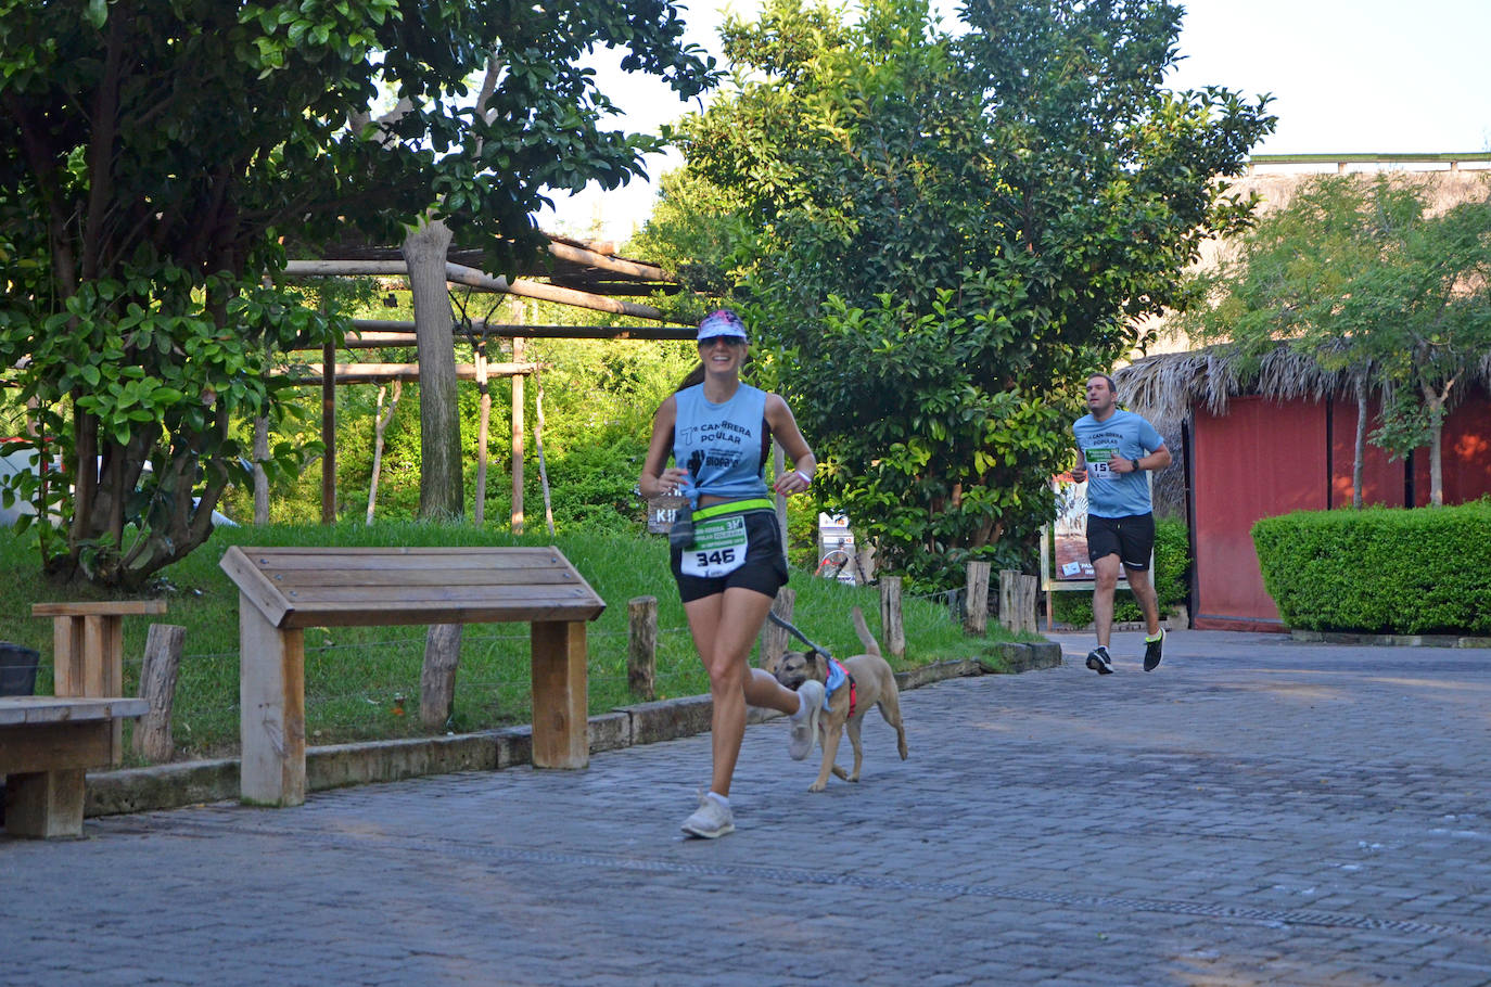
<svg viewBox="0 0 1491 987"><path fill-rule="evenodd" d="M704 385L674 395L672 461L689 471L683 494L695 507L699 495L744 499L766 496L762 444L766 440L766 392L743 383L725 404L711 404Z"/></svg>

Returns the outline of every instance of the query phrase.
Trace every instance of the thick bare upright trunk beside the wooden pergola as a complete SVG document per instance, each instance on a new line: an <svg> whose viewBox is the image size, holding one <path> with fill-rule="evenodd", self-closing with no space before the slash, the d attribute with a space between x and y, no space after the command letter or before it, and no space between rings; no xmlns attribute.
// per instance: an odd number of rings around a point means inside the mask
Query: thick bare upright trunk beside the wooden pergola
<svg viewBox="0 0 1491 987"><path fill-rule="evenodd" d="M403 247L419 350L419 517L443 520L465 513L456 355L446 291L449 246L450 230L443 222L425 222L404 239Z"/></svg>

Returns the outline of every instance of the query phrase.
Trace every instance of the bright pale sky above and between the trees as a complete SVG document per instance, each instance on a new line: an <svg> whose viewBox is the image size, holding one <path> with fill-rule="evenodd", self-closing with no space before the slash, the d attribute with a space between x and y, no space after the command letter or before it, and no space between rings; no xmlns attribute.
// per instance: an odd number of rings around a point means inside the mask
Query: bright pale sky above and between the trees
<svg viewBox="0 0 1491 987"><path fill-rule="evenodd" d="M756 0L686 0L689 40L719 55L725 10L751 16ZM953 18L957 3L936 0ZM1255 154L1415 154L1491 151L1491 3L1485 0L1187 0L1185 60L1178 88L1226 85L1272 92L1278 130ZM602 88L628 110L628 127L652 130L696 104L666 86L626 79L596 64ZM616 85L611 85L614 79ZM650 182L555 197L544 228L625 240L652 210L658 177L683 164L677 152L649 158Z"/></svg>

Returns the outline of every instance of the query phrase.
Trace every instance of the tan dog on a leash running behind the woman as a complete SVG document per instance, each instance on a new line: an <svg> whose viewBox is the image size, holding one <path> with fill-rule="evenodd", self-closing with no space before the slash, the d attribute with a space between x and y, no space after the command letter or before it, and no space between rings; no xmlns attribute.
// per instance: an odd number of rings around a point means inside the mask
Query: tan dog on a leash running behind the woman
<svg viewBox="0 0 1491 987"><path fill-rule="evenodd" d="M835 689L829 696L829 707L819 714L819 740L823 742L823 768L817 780L808 786L808 792L822 792L829 783L832 771L845 781L859 781L859 766L865 759L863 745L859 741L859 728L865 720L865 713L872 705L880 707L880 716L896 729L896 748L901 759L907 759L907 731L901 723L901 690L896 687L896 675L890 665L880 656L880 644L875 643L869 628L865 625L865 614L854 607L854 634L866 655L842 659L844 671L854 681L853 696L848 683ZM828 659L817 652L787 652L777 665L777 681L787 689L796 689L808 678L828 681ZM853 699L854 708L850 710ZM844 769L833 763L838 754L839 738L848 731L848 742L854 747L854 771L844 774Z"/></svg>

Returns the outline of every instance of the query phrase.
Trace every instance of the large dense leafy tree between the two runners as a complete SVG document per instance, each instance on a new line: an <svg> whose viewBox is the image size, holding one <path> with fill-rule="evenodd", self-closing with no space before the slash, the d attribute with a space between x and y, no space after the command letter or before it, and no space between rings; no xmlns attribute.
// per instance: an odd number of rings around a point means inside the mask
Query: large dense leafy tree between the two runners
<svg viewBox="0 0 1491 987"><path fill-rule="evenodd" d="M802 0L732 19L734 88L683 121L690 182L734 204L719 252L823 459L823 494L887 565L1020 568L1087 373L1187 301L1266 100L1172 92L1163 0L923 0L854 24ZM683 227L687 201L668 204ZM717 224L717 230L725 227Z"/></svg>

